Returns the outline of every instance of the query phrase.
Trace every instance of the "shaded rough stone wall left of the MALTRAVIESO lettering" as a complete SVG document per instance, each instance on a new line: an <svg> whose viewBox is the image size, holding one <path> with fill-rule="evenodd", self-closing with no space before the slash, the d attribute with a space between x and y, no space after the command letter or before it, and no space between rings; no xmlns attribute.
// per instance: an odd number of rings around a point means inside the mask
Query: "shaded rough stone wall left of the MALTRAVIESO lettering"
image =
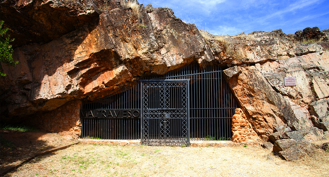
<svg viewBox="0 0 329 177"><path fill-rule="evenodd" d="M30 119L30 122L47 132L73 135L77 138L81 134L80 105L81 100L69 101L53 111L38 114L35 119Z"/></svg>

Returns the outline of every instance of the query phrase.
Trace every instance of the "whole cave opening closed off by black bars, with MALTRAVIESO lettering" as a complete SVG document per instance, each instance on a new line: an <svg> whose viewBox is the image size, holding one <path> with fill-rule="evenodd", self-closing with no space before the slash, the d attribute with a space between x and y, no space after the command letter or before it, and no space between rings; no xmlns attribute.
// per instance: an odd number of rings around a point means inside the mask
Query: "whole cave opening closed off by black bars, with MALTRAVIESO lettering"
<svg viewBox="0 0 329 177"><path fill-rule="evenodd" d="M202 69L192 63L162 76L134 80L112 95L84 100L81 137L140 139L149 145L230 140L231 120L238 107L220 67Z"/></svg>

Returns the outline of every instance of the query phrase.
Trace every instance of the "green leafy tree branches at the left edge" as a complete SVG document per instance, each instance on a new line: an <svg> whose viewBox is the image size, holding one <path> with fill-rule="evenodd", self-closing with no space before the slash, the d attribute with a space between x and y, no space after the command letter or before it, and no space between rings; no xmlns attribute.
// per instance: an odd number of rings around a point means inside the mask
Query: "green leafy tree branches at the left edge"
<svg viewBox="0 0 329 177"><path fill-rule="evenodd" d="M7 66L16 66L18 61L13 61L13 49L10 42L14 39L10 39L10 35L6 35L8 28L2 28L4 21L0 21L0 62L6 63ZM0 63L0 77L7 76L3 73L3 69Z"/></svg>

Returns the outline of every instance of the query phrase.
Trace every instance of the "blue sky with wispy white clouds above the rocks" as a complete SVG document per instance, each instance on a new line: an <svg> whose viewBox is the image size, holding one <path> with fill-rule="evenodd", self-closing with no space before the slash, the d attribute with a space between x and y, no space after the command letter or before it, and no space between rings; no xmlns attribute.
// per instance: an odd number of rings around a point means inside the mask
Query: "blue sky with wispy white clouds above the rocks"
<svg viewBox="0 0 329 177"><path fill-rule="evenodd" d="M216 35L272 31L294 34L305 27L329 28L329 0L138 0L168 7L175 16Z"/></svg>

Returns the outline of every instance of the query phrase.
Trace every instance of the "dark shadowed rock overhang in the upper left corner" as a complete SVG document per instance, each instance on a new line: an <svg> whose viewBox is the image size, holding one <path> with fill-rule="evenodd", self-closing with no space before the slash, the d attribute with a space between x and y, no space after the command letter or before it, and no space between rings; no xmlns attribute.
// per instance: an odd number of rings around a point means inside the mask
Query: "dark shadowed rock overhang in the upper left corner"
<svg viewBox="0 0 329 177"><path fill-rule="evenodd" d="M1 20L15 39L13 48L29 43L45 43L98 20L91 0L1 2Z"/></svg>

